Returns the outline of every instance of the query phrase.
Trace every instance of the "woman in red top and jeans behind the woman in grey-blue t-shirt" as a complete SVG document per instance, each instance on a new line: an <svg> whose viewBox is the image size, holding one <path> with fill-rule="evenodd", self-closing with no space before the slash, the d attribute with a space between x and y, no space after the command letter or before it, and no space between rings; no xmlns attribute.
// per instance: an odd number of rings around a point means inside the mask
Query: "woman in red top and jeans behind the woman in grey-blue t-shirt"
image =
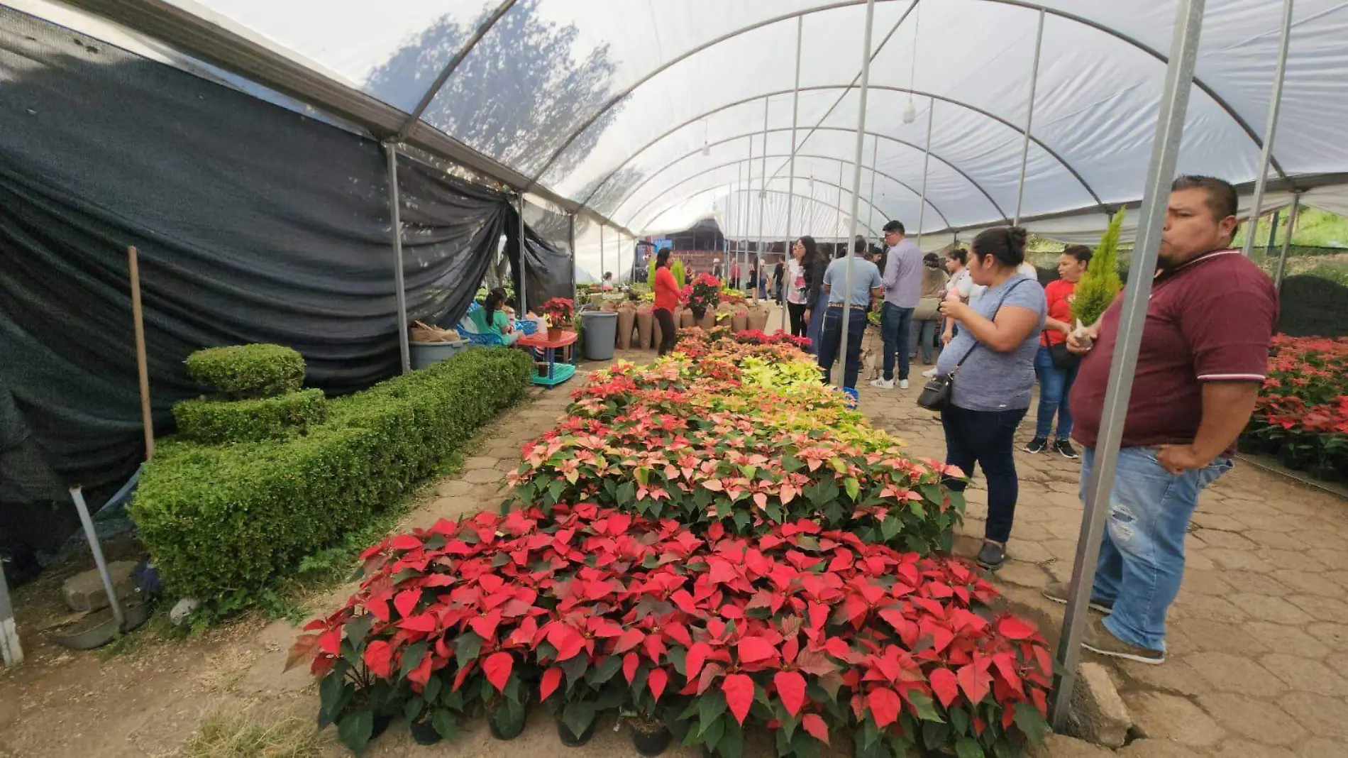
<svg viewBox="0 0 1348 758"><path fill-rule="evenodd" d="M1077 379L1078 359L1069 357L1070 366L1061 368L1053 361L1053 345L1066 343L1068 334L1074 328L1072 301L1076 299L1077 282L1086 272L1088 263L1091 263L1091 248L1080 244L1068 245L1058 256L1058 279L1043 287L1043 294L1049 298L1049 317L1043 322L1043 333L1039 334L1039 352L1034 356L1034 372L1039 376L1039 421L1034 428L1034 440L1024 446L1027 453L1053 449L1062 457L1077 457L1077 450L1068 441L1072 437L1072 409L1068 407L1068 395ZM1062 348L1058 348L1058 352L1064 352ZM1058 433L1050 444L1049 433L1053 432L1054 414L1058 415Z"/></svg>

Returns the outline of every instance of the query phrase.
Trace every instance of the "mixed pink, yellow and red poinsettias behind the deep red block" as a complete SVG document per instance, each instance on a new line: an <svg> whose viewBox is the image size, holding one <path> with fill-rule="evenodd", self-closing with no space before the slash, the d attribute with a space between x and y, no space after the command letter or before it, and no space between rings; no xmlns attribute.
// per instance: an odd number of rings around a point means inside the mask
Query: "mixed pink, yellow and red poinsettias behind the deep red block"
<svg viewBox="0 0 1348 758"><path fill-rule="evenodd" d="M745 534L811 518L868 542L949 549L964 502L941 479L958 472L905 456L787 340L696 333L667 361L597 372L524 446L514 496Z"/></svg>

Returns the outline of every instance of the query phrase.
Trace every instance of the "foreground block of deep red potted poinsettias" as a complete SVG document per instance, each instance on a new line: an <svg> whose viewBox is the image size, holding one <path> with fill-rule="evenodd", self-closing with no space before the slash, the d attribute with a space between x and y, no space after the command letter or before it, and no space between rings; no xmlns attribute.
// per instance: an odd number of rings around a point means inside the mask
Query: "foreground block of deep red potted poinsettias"
<svg viewBox="0 0 1348 758"><path fill-rule="evenodd" d="M696 534L558 504L372 546L359 592L293 658L311 658L319 723L357 751L395 715L419 742L476 712L510 739L543 705L569 745L623 713L647 755L673 732L737 758L748 727L779 755L842 735L865 757L1010 755L1045 727L1051 662L995 599L962 561L811 521Z"/></svg>

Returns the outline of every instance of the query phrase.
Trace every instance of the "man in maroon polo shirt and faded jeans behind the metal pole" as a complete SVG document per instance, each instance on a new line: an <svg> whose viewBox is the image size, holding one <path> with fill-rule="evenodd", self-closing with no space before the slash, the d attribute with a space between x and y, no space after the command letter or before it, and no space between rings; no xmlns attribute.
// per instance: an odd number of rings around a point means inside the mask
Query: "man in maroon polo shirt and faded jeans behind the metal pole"
<svg viewBox="0 0 1348 758"><path fill-rule="evenodd" d="M1254 411L1278 294L1268 275L1229 250L1236 190L1211 177L1170 186L1142 348L1096 564L1082 645L1143 664L1165 661L1166 611L1184 577L1184 538L1198 492L1231 469ZM1081 487L1095 460L1122 299L1069 348L1085 352L1072 388ZM1093 345L1093 347L1092 347ZM1089 352L1088 352L1089 351ZM1066 587L1045 595L1066 602Z"/></svg>

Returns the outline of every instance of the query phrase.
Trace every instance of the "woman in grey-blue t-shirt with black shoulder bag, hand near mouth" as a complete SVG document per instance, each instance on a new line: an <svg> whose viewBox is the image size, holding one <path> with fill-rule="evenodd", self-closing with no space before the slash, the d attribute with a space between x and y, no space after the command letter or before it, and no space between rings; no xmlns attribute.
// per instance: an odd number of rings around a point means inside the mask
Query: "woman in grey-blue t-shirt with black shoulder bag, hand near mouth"
<svg viewBox="0 0 1348 758"><path fill-rule="evenodd" d="M1043 287L1016 268L1024 263L1027 233L999 227L975 237L969 276L987 287L973 305L945 301L941 313L958 321L958 330L941 352L937 372L958 368L950 402L941 410L945 461L967 476L973 464L988 480L988 522L979 564L998 569L1006 560L1019 483L1015 472L1015 429L1030 407L1034 355L1047 314ZM964 482L949 480L964 491Z"/></svg>

